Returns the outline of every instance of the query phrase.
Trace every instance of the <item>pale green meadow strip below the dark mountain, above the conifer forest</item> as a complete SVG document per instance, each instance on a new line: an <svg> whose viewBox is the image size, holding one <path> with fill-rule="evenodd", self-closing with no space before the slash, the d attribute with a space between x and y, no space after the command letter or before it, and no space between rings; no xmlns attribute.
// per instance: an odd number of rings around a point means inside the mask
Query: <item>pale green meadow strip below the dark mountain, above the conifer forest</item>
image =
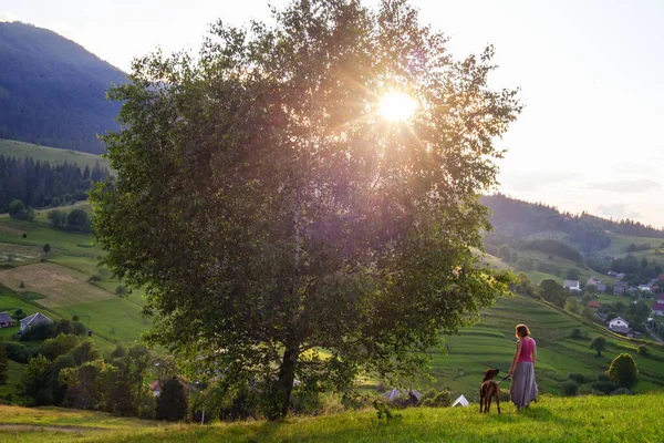
<svg viewBox="0 0 664 443"><path fill-rule="evenodd" d="M59 150L56 147L33 145L31 143L15 142L13 140L0 138L0 155L6 157L25 158L32 157L34 161L49 162L52 165L75 163L81 168L89 166L91 169L96 162L102 167L108 167L108 161L98 155L81 153L70 150Z"/></svg>

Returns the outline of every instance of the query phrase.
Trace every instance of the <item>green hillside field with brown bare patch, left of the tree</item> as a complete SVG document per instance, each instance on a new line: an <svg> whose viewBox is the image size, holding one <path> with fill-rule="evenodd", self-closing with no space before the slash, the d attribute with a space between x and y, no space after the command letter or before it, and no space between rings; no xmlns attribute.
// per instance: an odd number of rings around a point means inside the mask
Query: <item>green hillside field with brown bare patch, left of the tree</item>
<svg viewBox="0 0 664 443"><path fill-rule="evenodd" d="M91 210L86 203L72 207ZM0 215L0 284L9 288L0 287L0 311L20 308L28 315L41 311L52 319L79 316L104 351L112 350L115 342L139 339L149 327L141 315L142 293L117 297L115 288L121 281L97 267L104 253L93 244L94 238L53 229L46 222L50 210L39 210L32 223ZM42 249L46 243L51 245L48 257ZM7 260L6 255L12 259ZM87 281L93 275L102 278L96 285ZM19 288L21 281L23 289ZM0 340L10 339L17 330L0 330Z"/></svg>

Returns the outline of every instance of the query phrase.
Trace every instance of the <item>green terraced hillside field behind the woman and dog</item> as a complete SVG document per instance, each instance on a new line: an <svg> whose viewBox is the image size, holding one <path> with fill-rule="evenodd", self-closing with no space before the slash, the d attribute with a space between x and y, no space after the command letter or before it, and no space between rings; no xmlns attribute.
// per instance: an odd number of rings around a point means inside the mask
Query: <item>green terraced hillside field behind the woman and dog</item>
<svg viewBox="0 0 664 443"><path fill-rule="evenodd" d="M497 300L492 308L483 312L476 327L460 330L459 336L447 337L447 351L433 352L430 374L436 382L422 381L417 388L448 388L455 395L476 399L477 387L487 368L498 368L507 374L516 346L515 326L521 322L528 324L538 343L536 375L541 392L558 394L569 372L596 380L598 373L605 371L621 352L631 353L643 372L635 388L637 392L663 389L664 351L660 347L652 344L647 357L637 356L636 342L526 297ZM575 328L588 339L571 339L570 333ZM600 334L606 337L608 347L602 357L596 358L589 349L589 342L590 338ZM509 385L509 382L505 383Z"/></svg>

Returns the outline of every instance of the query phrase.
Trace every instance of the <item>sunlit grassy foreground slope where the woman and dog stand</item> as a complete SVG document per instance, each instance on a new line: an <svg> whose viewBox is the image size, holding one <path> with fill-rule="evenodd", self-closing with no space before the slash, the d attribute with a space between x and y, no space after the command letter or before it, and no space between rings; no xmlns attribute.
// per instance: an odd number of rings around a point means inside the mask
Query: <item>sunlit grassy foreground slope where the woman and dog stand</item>
<svg viewBox="0 0 664 443"><path fill-rule="evenodd" d="M373 411L283 422L156 424L59 409L0 406L7 442L661 442L662 394L540 399L515 412L502 404L480 414L469 408L401 411L378 422Z"/></svg>

